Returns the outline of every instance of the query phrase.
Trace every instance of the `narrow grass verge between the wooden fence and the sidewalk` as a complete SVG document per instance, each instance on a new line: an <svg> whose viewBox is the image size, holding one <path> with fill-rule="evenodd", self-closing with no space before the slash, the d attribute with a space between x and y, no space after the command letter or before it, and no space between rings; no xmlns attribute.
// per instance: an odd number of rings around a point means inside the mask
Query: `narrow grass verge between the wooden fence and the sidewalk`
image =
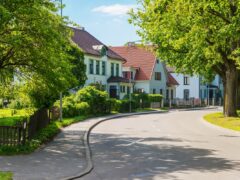
<svg viewBox="0 0 240 180"><path fill-rule="evenodd" d="M0 146L0 155L18 155L18 154L29 154L34 150L38 149L42 144L51 141L60 131L61 128L69 126L73 123L83 121L89 118L89 116L78 116L74 118L66 118L63 121L53 121L46 128L40 130L36 136L26 142L25 145L9 147Z"/></svg>

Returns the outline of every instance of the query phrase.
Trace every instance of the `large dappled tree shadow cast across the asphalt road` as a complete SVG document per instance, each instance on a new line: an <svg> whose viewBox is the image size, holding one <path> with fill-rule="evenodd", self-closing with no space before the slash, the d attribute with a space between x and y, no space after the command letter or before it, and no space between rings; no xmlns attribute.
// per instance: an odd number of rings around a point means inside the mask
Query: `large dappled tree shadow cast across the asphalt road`
<svg viewBox="0 0 240 180"><path fill-rule="evenodd" d="M183 139L127 138L113 134L91 135L94 172L103 179L176 179L170 173L219 172L239 162L217 157L211 149L181 146ZM178 142L178 145L173 145ZM180 143L179 143L180 142ZM238 166L239 167L239 166ZM183 172L184 171L184 172Z"/></svg>

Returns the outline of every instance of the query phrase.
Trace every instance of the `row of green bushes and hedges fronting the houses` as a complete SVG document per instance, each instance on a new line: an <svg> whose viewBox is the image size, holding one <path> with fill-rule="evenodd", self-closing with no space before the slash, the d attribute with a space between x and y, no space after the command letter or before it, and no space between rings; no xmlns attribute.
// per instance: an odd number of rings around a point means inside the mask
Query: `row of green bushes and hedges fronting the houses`
<svg viewBox="0 0 240 180"><path fill-rule="evenodd" d="M132 94L131 103L129 96L123 100L109 98L106 91L97 89L94 86L87 86L79 90L75 95L63 98L63 117L74 117L79 115L100 115L108 114L111 111L129 112L137 108L148 108L151 102L160 102L160 94ZM59 107L59 101L55 106Z"/></svg>

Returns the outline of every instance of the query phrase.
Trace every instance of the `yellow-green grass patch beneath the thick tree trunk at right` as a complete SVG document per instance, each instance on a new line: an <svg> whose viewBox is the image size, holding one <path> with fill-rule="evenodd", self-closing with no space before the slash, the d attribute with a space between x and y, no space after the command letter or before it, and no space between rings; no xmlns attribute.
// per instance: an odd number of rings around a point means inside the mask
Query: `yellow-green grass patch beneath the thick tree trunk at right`
<svg viewBox="0 0 240 180"><path fill-rule="evenodd" d="M223 128L240 131L240 117L224 117L223 113L212 113L204 116L204 119Z"/></svg>

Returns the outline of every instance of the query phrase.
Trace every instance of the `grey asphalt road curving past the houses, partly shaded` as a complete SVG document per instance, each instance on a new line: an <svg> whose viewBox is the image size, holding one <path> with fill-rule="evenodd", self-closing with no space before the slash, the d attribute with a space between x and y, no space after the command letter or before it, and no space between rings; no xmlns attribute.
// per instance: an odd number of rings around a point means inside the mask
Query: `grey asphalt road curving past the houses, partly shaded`
<svg viewBox="0 0 240 180"><path fill-rule="evenodd" d="M92 132L94 170L83 180L240 180L240 133L202 120L208 111L107 121Z"/></svg>

